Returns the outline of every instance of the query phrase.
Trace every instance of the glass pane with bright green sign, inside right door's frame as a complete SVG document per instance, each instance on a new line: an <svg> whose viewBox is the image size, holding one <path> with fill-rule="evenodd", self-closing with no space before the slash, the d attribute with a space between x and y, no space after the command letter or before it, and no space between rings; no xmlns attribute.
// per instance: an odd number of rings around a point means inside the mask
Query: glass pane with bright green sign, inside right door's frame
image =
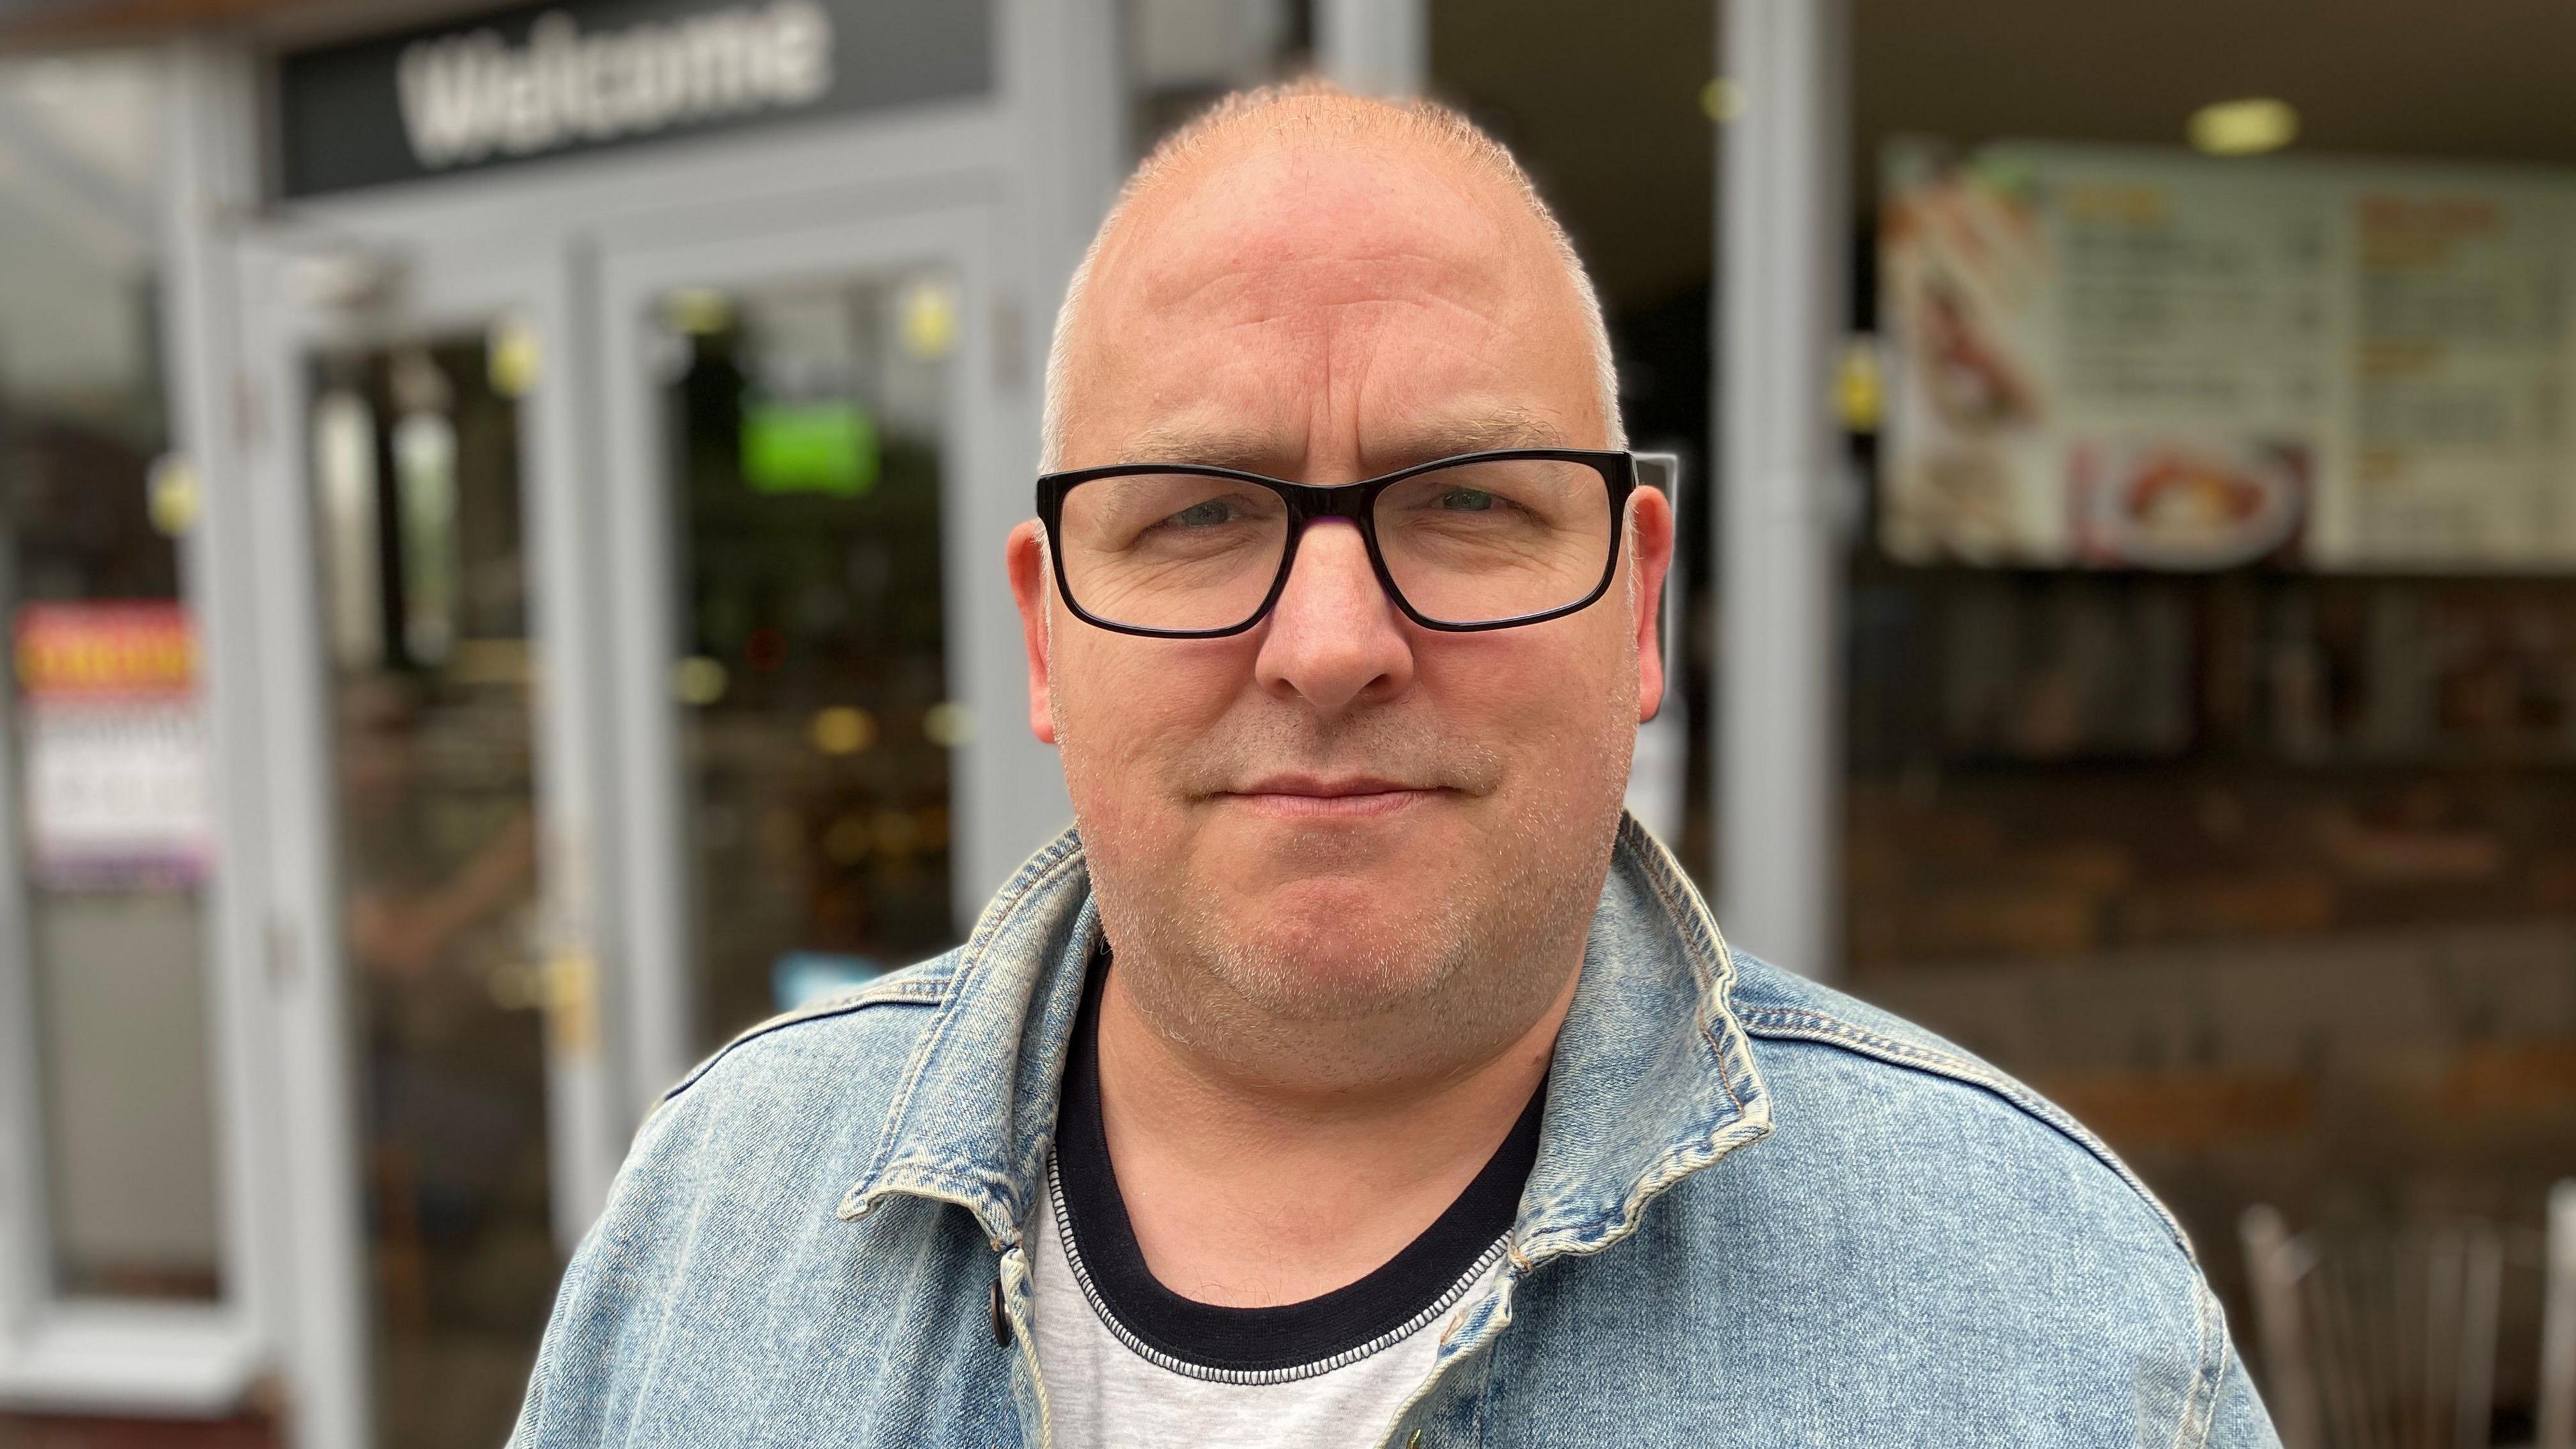
<svg viewBox="0 0 2576 1449"><path fill-rule="evenodd" d="M938 954L956 273L659 299L696 1049Z"/></svg>

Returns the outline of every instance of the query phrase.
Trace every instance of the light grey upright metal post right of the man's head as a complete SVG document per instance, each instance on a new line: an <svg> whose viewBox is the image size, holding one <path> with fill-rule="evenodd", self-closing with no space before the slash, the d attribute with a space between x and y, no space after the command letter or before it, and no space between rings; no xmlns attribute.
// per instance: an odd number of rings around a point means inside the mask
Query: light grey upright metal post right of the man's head
<svg viewBox="0 0 2576 1449"><path fill-rule="evenodd" d="M1721 0L1718 882L1726 933L1832 977L1850 325L1847 0Z"/></svg>

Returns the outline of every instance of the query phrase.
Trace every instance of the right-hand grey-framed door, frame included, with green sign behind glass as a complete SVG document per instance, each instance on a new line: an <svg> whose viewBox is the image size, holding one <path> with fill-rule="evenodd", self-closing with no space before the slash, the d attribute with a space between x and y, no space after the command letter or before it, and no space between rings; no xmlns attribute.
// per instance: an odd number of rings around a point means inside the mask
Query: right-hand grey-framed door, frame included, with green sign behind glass
<svg viewBox="0 0 2576 1449"><path fill-rule="evenodd" d="M611 503L641 1093L953 946L1069 815L1020 724L1002 536L1036 400L989 222L796 217L603 258L608 464L641 485Z"/></svg>

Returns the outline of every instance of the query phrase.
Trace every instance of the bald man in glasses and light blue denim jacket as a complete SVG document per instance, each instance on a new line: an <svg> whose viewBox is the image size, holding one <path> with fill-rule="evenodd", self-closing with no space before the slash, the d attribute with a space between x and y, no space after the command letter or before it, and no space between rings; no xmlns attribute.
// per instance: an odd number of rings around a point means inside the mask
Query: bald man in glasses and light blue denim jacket
<svg viewBox="0 0 2576 1449"><path fill-rule="evenodd" d="M1445 111L1159 147L1007 544L1079 835L672 1091L518 1444L2272 1444L2102 1145L1620 817L1672 511L1607 356Z"/></svg>

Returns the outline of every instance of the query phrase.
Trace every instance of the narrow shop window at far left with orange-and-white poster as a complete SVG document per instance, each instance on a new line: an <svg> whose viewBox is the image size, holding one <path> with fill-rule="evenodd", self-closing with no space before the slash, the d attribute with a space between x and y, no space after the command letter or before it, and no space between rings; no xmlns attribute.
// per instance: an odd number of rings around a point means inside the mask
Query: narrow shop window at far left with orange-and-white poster
<svg viewBox="0 0 2576 1449"><path fill-rule="evenodd" d="M57 1297L222 1292L193 492L165 462L152 62L0 67L0 508L36 1222ZM15 1067L21 1057L10 1055Z"/></svg>

